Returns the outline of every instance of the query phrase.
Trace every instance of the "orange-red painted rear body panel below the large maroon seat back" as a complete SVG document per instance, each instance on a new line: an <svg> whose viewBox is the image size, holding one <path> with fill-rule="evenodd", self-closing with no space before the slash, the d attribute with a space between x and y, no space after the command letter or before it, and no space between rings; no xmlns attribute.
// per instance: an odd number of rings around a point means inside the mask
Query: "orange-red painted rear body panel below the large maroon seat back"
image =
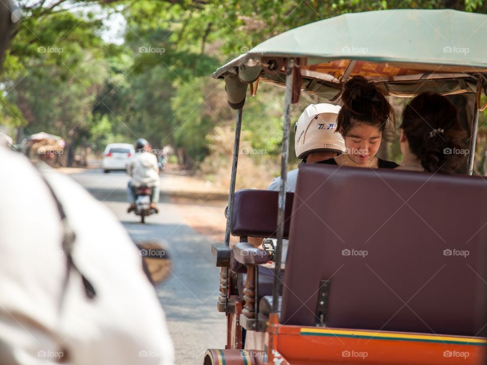
<svg viewBox="0 0 487 365"><path fill-rule="evenodd" d="M330 332L349 333L353 336ZM323 329L279 324L271 314L267 331L267 362L282 365L310 364L484 364L487 343L479 338L427 334L375 332L377 337L361 338L368 331ZM398 339L394 336L399 337ZM403 337L403 338L401 338ZM414 340L418 337L418 340ZM438 340L428 340L434 337ZM425 339L426 338L426 339ZM458 339L458 342L454 343ZM443 341L444 340L444 341ZM469 342L469 341L472 342ZM483 343L480 343L482 341ZM475 343L473 343L475 342Z"/></svg>

